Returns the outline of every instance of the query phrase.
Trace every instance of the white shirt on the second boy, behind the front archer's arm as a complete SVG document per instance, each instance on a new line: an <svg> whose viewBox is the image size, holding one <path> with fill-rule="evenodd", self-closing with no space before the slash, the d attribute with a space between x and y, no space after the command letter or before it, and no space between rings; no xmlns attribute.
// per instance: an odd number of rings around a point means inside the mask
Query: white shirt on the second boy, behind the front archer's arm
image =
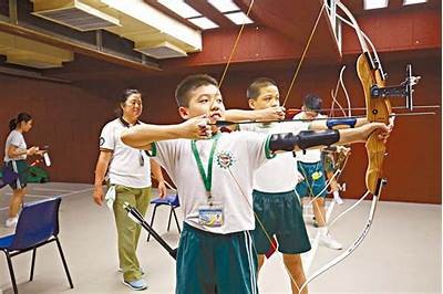
<svg viewBox="0 0 443 294"><path fill-rule="evenodd" d="M249 130L259 134L298 134L295 123L272 123L239 125L240 130ZM277 156L262 165L254 175L254 189L267 193L288 192L297 185L296 158L292 153L277 154Z"/></svg>

